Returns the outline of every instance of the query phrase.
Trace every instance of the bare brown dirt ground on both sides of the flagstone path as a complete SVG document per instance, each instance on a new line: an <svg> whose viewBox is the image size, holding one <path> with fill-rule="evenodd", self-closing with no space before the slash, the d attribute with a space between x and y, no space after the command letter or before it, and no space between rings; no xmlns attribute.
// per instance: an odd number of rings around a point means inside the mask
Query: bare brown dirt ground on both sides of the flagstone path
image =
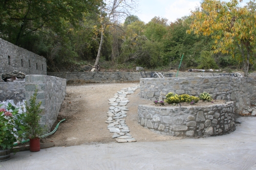
<svg viewBox="0 0 256 170"><path fill-rule="evenodd" d="M137 83L120 84L86 84L80 86L67 86L67 96L61 105L61 109L53 129L57 123L62 122L58 130L51 136L42 139L44 142L54 141L56 146L71 146L82 143L109 143L115 142L113 133L107 129L110 105L108 99L114 97L114 93L122 88L138 86ZM134 94L127 95L130 100L126 106L129 108L126 124L130 127L130 134L137 141L174 140L180 137L158 135L149 129L143 128L138 122L138 105L151 104L151 101L139 97L139 89Z"/></svg>

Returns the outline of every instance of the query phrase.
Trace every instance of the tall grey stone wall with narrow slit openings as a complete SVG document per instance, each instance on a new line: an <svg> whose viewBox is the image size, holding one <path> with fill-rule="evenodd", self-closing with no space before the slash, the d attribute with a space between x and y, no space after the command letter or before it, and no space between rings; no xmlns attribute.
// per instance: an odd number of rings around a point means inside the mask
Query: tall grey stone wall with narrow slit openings
<svg viewBox="0 0 256 170"><path fill-rule="evenodd" d="M47 75L46 59L0 38L0 74L18 70L26 75Z"/></svg>

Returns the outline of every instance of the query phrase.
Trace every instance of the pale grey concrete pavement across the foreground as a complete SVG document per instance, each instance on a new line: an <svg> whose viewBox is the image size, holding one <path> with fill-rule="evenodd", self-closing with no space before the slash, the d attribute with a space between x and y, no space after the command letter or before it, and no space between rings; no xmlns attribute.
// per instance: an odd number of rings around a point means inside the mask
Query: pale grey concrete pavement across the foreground
<svg viewBox="0 0 256 170"><path fill-rule="evenodd" d="M108 143L18 152L2 169L256 169L256 117L228 135L158 142Z"/></svg>

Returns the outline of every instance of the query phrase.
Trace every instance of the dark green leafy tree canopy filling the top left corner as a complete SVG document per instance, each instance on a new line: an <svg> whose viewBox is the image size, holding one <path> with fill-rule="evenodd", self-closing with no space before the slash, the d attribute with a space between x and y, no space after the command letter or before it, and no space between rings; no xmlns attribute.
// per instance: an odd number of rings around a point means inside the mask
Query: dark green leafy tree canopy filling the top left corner
<svg viewBox="0 0 256 170"><path fill-rule="evenodd" d="M83 13L95 9L98 1L0 1L0 32L4 38L19 45L20 37L27 36L43 28L51 28L56 33L63 30L68 21L78 26Z"/></svg>

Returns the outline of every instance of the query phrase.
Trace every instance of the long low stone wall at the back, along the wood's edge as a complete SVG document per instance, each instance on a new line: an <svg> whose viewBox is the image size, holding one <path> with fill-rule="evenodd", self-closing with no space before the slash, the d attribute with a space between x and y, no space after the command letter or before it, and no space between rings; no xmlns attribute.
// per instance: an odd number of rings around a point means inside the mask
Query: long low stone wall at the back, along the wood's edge
<svg viewBox="0 0 256 170"><path fill-rule="evenodd" d="M162 74L173 74L177 72L161 72ZM139 82L140 72L47 72L48 76L56 76L67 79L67 83L122 83L122 82ZM211 72L179 72L178 77L197 77L197 76L216 76Z"/></svg>

